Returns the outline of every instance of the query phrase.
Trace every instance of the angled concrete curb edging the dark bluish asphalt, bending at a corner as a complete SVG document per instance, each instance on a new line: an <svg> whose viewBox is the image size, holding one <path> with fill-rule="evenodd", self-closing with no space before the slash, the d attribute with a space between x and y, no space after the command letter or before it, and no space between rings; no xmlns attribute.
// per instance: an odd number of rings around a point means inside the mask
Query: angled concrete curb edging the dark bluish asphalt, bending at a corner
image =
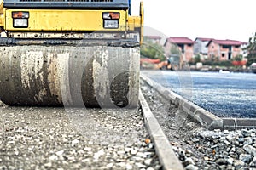
<svg viewBox="0 0 256 170"><path fill-rule="evenodd" d="M159 83L141 74L141 79L147 82L148 85L154 88L163 98L170 100L173 104L179 106L189 116L192 116L196 121L207 129L227 129L236 130L241 128L256 128L256 118L220 118L206 111L191 101L184 99L182 96L175 94L168 88L164 88Z"/></svg>

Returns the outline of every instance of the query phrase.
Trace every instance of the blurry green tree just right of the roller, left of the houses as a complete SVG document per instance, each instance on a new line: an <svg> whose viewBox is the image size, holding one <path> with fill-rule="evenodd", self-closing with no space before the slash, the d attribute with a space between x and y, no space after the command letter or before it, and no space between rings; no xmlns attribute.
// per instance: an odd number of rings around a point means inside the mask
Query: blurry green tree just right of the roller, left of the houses
<svg viewBox="0 0 256 170"><path fill-rule="evenodd" d="M141 47L141 55L149 59L160 59L161 61L166 60L164 48L150 40L145 39Z"/></svg>

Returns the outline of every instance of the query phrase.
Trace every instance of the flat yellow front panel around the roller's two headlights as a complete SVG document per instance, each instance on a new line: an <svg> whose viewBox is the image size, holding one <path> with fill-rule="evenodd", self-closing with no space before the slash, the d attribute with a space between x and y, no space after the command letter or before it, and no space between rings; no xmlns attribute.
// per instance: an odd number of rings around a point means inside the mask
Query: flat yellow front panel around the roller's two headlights
<svg viewBox="0 0 256 170"><path fill-rule="evenodd" d="M13 11L29 12L28 27L13 27ZM119 28L103 28L103 12L119 12ZM5 30L8 31L125 31L126 11L124 10L45 10L6 9Z"/></svg>

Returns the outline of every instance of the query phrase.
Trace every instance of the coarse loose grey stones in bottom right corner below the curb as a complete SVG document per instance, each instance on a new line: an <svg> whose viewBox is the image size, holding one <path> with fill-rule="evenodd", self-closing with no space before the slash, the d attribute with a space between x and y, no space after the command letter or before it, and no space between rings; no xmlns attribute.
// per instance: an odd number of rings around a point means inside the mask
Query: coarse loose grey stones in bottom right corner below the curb
<svg viewBox="0 0 256 170"><path fill-rule="evenodd" d="M219 169L256 169L256 130L202 131L191 141L204 154L204 161Z"/></svg>

